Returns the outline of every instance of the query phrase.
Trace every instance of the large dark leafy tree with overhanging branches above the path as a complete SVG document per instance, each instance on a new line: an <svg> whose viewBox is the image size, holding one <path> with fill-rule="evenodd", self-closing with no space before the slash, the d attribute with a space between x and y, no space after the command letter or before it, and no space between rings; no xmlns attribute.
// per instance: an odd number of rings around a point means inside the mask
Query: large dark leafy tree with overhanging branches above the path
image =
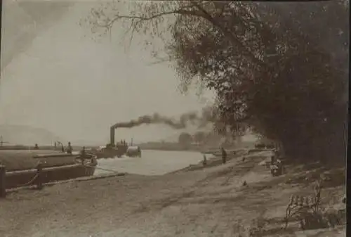
<svg viewBox="0 0 351 237"><path fill-rule="evenodd" d="M91 29L159 37L184 89L199 78L217 94L222 130L251 127L291 158L345 158L348 5L138 1L95 8ZM126 6L126 5L123 5Z"/></svg>

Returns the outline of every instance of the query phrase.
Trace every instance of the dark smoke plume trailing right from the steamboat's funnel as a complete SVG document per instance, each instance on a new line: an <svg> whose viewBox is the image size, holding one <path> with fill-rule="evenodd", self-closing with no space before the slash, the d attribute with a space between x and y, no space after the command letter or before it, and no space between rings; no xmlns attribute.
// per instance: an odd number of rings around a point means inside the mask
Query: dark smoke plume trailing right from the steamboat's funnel
<svg viewBox="0 0 351 237"><path fill-rule="evenodd" d="M176 120L171 117L165 117L158 113L154 113L154 115L140 116L138 119L129 122L118 122L117 124L112 125L112 128L131 128L142 124L165 124L173 129L185 129L188 124L192 124L198 128L202 128L214 121L215 116L211 113L211 109L204 108L201 115L198 115L196 112L190 112L180 115L178 120Z"/></svg>

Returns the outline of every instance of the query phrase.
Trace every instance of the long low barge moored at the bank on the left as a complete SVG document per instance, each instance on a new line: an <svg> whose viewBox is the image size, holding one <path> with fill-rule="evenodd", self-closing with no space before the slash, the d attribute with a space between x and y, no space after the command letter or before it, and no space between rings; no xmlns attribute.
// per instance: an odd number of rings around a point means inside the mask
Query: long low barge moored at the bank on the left
<svg viewBox="0 0 351 237"><path fill-rule="evenodd" d="M84 161L79 158L77 153L67 154L55 150L0 151L0 161L6 166L6 188L29 185L28 182L37 174L39 163L43 167L43 183L93 175L97 165L95 155L86 154ZM14 164L21 161L23 163L20 165Z"/></svg>

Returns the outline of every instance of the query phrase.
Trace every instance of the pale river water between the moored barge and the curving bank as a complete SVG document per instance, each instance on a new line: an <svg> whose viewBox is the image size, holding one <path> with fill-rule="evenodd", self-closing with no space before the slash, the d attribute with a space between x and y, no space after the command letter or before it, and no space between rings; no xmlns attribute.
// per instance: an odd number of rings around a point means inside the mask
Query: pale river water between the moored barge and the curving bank
<svg viewBox="0 0 351 237"><path fill-rule="evenodd" d="M195 165L203 160L203 155L192 151L142 150L141 158L99 159L94 175L111 172L130 174L160 175Z"/></svg>

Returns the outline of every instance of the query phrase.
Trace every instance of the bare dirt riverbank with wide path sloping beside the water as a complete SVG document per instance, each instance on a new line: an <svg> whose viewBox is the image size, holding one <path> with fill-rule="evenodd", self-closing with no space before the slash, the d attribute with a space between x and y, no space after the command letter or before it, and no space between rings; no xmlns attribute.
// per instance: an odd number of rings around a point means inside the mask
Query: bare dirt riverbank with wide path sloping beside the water
<svg viewBox="0 0 351 237"><path fill-rule="evenodd" d="M260 225L252 221L263 223L264 236L345 236L345 226L299 231L293 223L282 229L289 197L311 192L312 179L305 177L322 169L287 167L287 174L273 178L258 165L266 156L162 176L126 174L9 193L0 200L0 236L239 236ZM322 198L330 206L345 192L343 172L326 173L333 185Z"/></svg>

